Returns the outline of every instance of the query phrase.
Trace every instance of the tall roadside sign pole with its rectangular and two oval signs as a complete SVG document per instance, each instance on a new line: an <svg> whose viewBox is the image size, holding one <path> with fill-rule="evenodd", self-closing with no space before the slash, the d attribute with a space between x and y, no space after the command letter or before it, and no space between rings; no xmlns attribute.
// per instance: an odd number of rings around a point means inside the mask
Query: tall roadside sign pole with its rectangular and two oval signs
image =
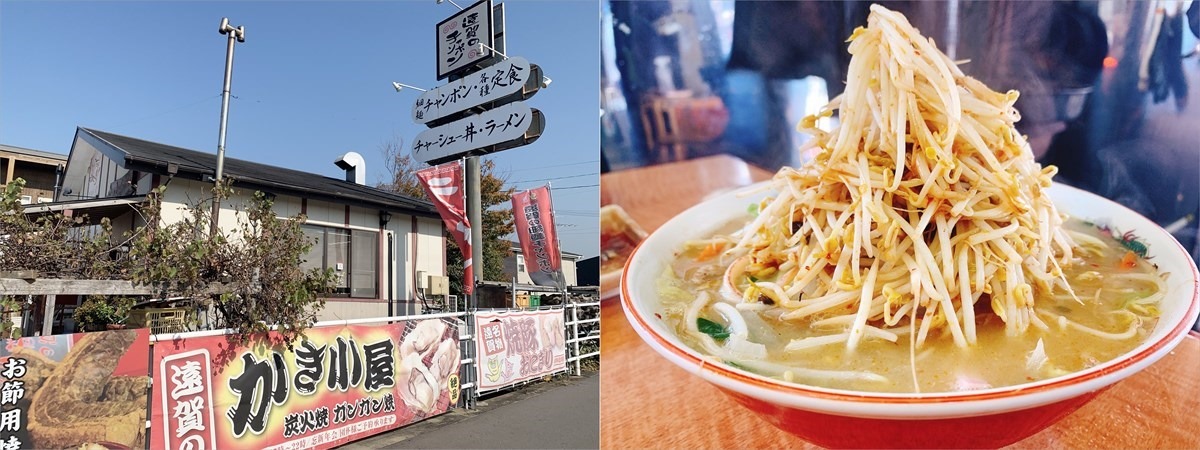
<svg viewBox="0 0 1200 450"><path fill-rule="evenodd" d="M460 8L436 29L437 76L448 84L424 90L413 104L413 121L428 130L413 139L413 158L428 164L466 160L464 200L470 224L473 280L468 310L479 307L484 280L484 211L481 155L522 145L541 137L546 119L523 101L550 84L541 67L524 58L509 58L504 49L504 7L479 0ZM404 86L392 83L398 90Z"/></svg>

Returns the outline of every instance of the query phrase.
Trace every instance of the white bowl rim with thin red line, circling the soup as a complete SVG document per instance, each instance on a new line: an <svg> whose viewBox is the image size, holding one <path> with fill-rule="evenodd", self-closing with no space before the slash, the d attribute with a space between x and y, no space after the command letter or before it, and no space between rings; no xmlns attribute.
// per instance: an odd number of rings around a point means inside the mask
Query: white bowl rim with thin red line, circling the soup
<svg viewBox="0 0 1200 450"><path fill-rule="evenodd" d="M1158 265L1159 271L1170 272L1168 278L1168 295L1159 305L1162 316L1151 336L1138 348L1121 355L1120 358L1091 367L1088 370L1067 374L1063 377L1027 383L1016 386L996 388L985 391L972 392L940 392L940 394L875 394L853 392L845 390L830 390L822 388L803 386L778 382L751 372L730 368L762 383L746 383L730 377L721 376L713 370L704 370L700 364L703 359L700 353L685 346L665 323L656 319L655 314L664 314L664 308L655 292L656 280L671 264L676 252L683 247L683 242L689 239L712 235L721 227L730 223L736 217L744 214L746 205L757 202L769 191L762 185L750 186L744 190L716 196L704 203L676 216L642 242L634 252L624 274L623 295L625 313L629 316L634 329L642 338L676 365L704 378L719 386L739 391L757 398L774 403L798 407L802 409L822 410L834 414L846 414L856 416L875 418L942 418L960 415L979 415L985 413L997 413L1004 410L1016 410L1034 406L1046 404L1055 401L1070 398L1088 391L1102 389L1109 384L1136 373L1153 361L1169 353L1187 335L1187 330L1196 320L1198 313L1198 274L1192 257L1186 250L1162 227L1136 212L1114 203L1103 197L1092 194L1066 185L1055 185L1049 190L1051 198L1060 211L1082 218L1097 224L1106 224L1110 229L1120 233L1133 230L1138 238L1146 244L1150 260ZM757 192L755 192L757 191ZM748 192L755 192L749 193ZM632 311L631 311L632 310ZM637 318L641 318L638 320ZM648 326L643 326L642 323ZM1182 326L1182 330L1181 330ZM648 328L648 329L647 329ZM666 348L666 346L682 349L692 358L680 356L678 353ZM1134 355L1142 355L1135 362L1128 360ZM1123 362L1122 362L1123 361ZM712 365L708 365L709 367ZM1063 378L1080 378L1081 374L1098 372L1098 377L1085 377L1080 383L1057 383L1060 388L1050 390L1038 390L1025 394L1027 388L1061 382ZM779 389L764 388L769 385L793 386L796 395L780 396ZM875 403L863 401L830 400L828 396L812 396L806 392L834 392L850 396L865 396L876 398ZM979 394L989 391L1013 392L1006 396L991 396L979 398ZM791 391L790 391L791 392ZM1021 395L1016 395L1021 392ZM934 398L929 403L904 403L904 404L880 404L880 400L895 398ZM960 398L962 401L953 401ZM887 403L887 402L882 402Z"/></svg>

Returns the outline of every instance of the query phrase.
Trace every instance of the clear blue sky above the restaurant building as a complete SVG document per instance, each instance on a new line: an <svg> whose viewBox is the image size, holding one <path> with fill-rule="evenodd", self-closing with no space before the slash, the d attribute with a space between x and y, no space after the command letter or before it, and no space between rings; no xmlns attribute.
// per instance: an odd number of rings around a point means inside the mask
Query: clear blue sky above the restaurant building
<svg viewBox="0 0 1200 450"><path fill-rule="evenodd" d="M456 0L468 6L470 0ZM494 0L493 0L494 1ZM599 253L599 5L504 1L509 56L553 79L527 101L542 137L492 156L517 188L550 181L563 250ZM66 154L77 126L216 152L226 37L234 54L227 157L342 176L358 151L386 178L382 144L403 148L433 88L434 25L456 7L422 1L0 1L0 143ZM578 186L578 187L577 187Z"/></svg>

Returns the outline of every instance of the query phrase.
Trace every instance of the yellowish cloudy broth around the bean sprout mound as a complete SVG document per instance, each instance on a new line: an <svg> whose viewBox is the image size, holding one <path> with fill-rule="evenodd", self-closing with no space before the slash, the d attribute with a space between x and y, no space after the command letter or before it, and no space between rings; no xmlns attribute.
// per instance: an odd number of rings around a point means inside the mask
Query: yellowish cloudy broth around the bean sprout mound
<svg viewBox="0 0 1200 450"><path fill-rule="evenodd" d="M1034 294L1037 308L1054 313L1052 317L1042 316L1042 319L1049 325L1048 330L1030 326L1024 335L1006 336L1002 320L986 306L990 301L984 295L976 304L978 342L967 348L956 347L949 332L942 329L931 334L924 346L914 352L910 352L910 335L901 335L895 343L881 338L864 338L853 352L847 350L844 342L787 352L784 346L793 338L833 335L846 330L840 328L814 329L810 320L780 322L762 317L757 312L743 311L742 314L749 325L749 340L766 344L768 353L766 361L770 364L824 371L865 371L883 376L887 382L806 379L803 376L796 376L796 373L784 374L778 370L752 371L800 384L833 389L913 392L917 389L913 385L912 355L916 355L916 379L919 383L919 391L947 392L998 388L1052 378L1108 361L1140 344L1157 320L1154 305L1129 307L1133 300L1153 294L1157 290L1156 284L1147 281L1121 280L1122 275L1136 271L1153 274L1156 270L1141 258L1136 258L1134 268L1123 268L1123 258L1126 262L1133 259L1128 259L1129 251L1122 246L1120 238L1102 234L1096 228L1074 220L1069 221L1067 227L1099 238L1108 247L1098 256L1082 254L1075 264L1063 268L1081 302L1076 302L1061 292L1056 295L1048 295L1044 292ZM733 228L731 226L726 232L731 232ZM678 254L671 270L659 280L659 292L662 294L667 312L664 320L676 330L688 346L704 353L698 338L688 332L684 326L684 311L702 290L708 290L714 296L714 302L720 301L716 300L720 296L718 288L728 262L721 262L720 258L697 262L700 252L700 248L692 248ZM1136 313L1136 319L1130 319L1128 313L1114 313L1115 311L1130 310ZM1058 314L1084 326L1111 334L1129 330L1134 322L1141 322L1141 325L1133 337L1109 340L1060 325ZM713 310L712 302L701 311L700 317L725 324L721 314ZM890 329L907 330L908 323L901 322ZM1038 340L1044 343L1048 360L1040 367L1030 370L1027 360ZM718 344L721 343L722 341L718 341ZM746 368L745 365L739 365L736 361L726 362Z"/></svg>

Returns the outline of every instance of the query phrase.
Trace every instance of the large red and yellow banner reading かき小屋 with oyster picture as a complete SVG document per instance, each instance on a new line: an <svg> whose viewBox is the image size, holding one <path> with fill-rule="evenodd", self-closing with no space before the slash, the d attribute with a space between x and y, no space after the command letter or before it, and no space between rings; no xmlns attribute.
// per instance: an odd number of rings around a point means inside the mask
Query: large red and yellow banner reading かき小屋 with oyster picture
<svg viewBox="0 0 1200 450"><path fill-rule="evenodd" d="M328 449L458 401L458 326L322 326L290 348L184 337L154 349L150 448Z"/></svg>

